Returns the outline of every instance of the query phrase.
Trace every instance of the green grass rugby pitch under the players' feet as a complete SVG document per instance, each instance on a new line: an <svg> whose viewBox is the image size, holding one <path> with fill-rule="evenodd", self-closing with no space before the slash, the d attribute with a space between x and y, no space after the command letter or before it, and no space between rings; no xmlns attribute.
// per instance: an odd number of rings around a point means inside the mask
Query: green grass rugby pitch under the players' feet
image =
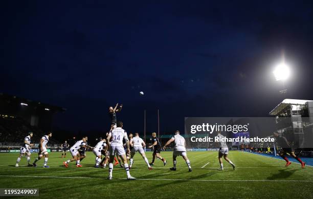
<svg viewBox="0 0 313 199"><path fill-rule="evenodd" d="M152 153L146 152L149 161ZM0 153L0 188L39 188L40 198L313 198L313 168L301 168L293 163L230 151L229 158L236 164L234 171L224 161L225 170L219 171L217 151L187 152L193 171L188 172L185 161L177 158L177 170L172 167L172 152L162 152L168 163L156 160L148 170L140 154L136 154L130 174L136 181L123 180L126 173L116 166L113 180L107 180L108 168L94 168L95 156L87 152L81 168L70 163L62 166L60 152L49 154L50 168L26 167L26 159L15 168L18 153ZM31 162L36 154L32 154ZM65 178L58 178L65 177Z"/></svg>

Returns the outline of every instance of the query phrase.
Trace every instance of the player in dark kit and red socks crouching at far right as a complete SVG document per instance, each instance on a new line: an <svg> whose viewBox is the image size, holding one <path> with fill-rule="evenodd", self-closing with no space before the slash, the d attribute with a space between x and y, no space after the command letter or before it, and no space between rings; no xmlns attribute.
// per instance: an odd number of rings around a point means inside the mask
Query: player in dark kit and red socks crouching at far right
<svg viewBox="0 0 313 199"><path fill-rule="evenodd" d="M298 156L295 155L295 150L289 145L288 140L284 136L279 136L278 132L274 132L274 137L277 144L281 147L279 156L286 161L286 167L292 163L287 159L287 157L284 156L286 153L289 153L290 156L299 161L301 163L301 167L304 168L305 162L303 162Z"/></svg>

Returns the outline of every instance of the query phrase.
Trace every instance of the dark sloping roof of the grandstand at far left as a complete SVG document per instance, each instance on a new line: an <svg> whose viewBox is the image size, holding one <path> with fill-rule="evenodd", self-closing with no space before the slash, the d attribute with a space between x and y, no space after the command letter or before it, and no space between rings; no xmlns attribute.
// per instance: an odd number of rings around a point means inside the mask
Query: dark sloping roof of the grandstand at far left
<svg viewBox="0 0 313 199"><path fill-rule="evenodd" d="M27 104L27 106L35 107L35 108L42 108L46 109L48 108L51 112L65 112L66 108L62 108L59 106L50 105L47 103L41 103L38 101L33 101L26 98L21 98L13 95L8 95L4 93L0 93L0 99L6 101L7 103L18 103L18 104Z"/></svg>

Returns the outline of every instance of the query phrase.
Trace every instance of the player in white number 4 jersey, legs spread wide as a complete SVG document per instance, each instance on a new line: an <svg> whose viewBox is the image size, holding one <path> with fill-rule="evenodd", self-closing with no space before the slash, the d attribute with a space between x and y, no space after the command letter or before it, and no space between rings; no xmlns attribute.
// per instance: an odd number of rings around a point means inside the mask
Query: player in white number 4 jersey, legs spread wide
<svg viewBox="0 0 313 199"><path fill-rule="evenodd" d="M131 168L132 164L133 164L133 156L135 156L136 152L138 151L142 158L145 160L146 164L148 165L148 169L152 170L152 167L149 164L148 159L146 158L146 154L145 151L143 149L143 147L146 146L145 142L139 137L138 132L135 133L135 137L133 137L131 139L131 141L129 142L130 145L132 145L132 149L131 149L131 153L130 153L130 165L129 168Z"/></svg>

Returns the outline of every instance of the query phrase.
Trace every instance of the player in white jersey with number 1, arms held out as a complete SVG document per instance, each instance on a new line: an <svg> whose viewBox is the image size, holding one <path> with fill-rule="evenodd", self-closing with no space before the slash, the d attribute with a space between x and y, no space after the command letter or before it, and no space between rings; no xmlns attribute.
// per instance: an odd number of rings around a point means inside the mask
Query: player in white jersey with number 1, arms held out
<svg viewBox="0 0 313 199"><path fill-rule="evenodd" d="M173 151L173 167L170 168L172 171L176 171L176 157L177 156L182 156L183 159L186 161L186 164L189 168L189 172L191 172L191 166L190 166L190 161L188 160L187 157L187 152L186 152L186 141L183 136L180 135L180 131L176 130L175 131L175 136L173 136L167 143L164 145L163 149L170 143L174 142L175 147Z"/></svg>

